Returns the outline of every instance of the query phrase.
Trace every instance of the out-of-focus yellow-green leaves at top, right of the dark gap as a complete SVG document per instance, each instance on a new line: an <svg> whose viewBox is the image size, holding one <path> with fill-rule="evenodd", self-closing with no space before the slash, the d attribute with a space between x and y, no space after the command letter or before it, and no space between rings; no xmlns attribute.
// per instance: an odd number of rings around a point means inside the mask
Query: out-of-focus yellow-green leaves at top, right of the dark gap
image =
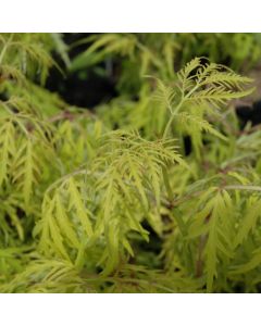
<svg viewBox="0 0 261 326"><path fill-rule="evenodd" d="M175 71L195 57L228 64L238 73L254 66L261 57L260 34L246 33L97 34L73 48L84 45L87 49L73 59L71 71L99 66L99 73L103 70L103 75L115 79L121 95L133 97L146 88L145 75L171 82Z"/></svg>

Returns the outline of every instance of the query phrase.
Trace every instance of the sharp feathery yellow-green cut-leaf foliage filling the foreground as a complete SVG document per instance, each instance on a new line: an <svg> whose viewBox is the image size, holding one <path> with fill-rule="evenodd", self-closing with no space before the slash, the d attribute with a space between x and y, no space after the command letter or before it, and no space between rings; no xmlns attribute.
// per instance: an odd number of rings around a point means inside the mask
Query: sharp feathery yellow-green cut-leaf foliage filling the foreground
<svg viewBox="0 0 261 326"><path fill-rule="evenodd" d="M1 35L1 292L259 291L261 134L231 102L252 80L197 57L176 72L175 38L164 59L138 38L94 36L71 65L61 35ZM90 112L45 87L51 51L138 53L149 76Z"/></svg>

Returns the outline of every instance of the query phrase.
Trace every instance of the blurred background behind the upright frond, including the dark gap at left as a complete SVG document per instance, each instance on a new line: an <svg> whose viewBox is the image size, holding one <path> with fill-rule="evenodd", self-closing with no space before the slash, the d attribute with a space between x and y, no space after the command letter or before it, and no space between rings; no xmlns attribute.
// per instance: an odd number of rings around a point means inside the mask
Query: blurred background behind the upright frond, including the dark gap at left
<svg viewBox="0 0 261 326"><path fill-rule="evenodd" d="M151 83L147 75L173 80L174 72L195 57L244 75L261 59L260 34L64 34L62 38L70 61L65 55L63 62L57 59L69 75L64 80L52 71L48 86L70 103L88 108L119 97L137 100Z"/></svg>

